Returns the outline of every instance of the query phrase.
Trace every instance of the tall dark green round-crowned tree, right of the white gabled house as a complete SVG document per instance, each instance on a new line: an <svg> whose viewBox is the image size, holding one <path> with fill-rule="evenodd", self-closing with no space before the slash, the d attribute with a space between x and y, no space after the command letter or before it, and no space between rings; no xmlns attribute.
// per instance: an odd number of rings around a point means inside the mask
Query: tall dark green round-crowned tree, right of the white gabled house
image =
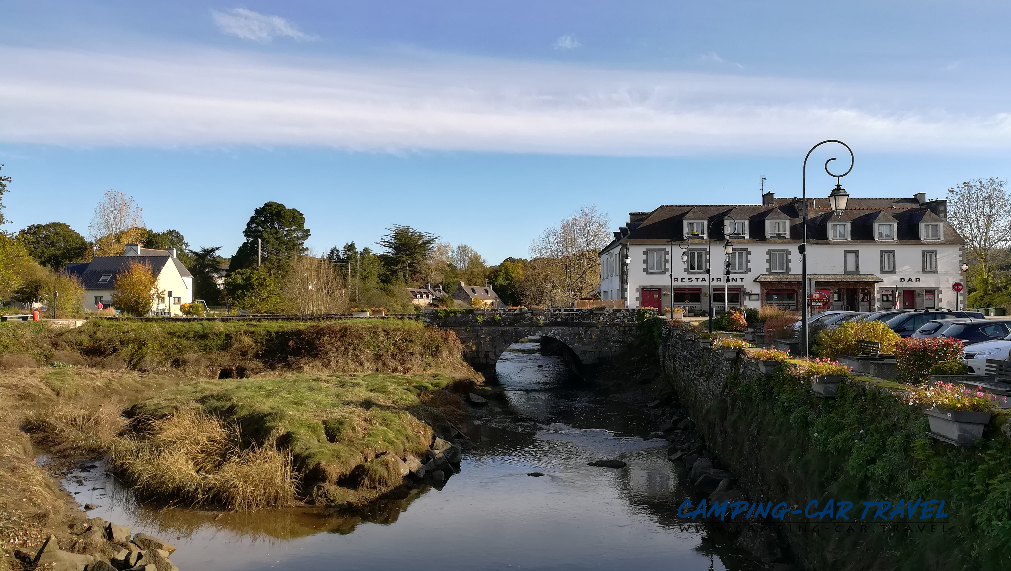
<svg viewBox="0 0 1011 571"><path fill-rule="evenodd" d="M254 210L246 223L243 230L246 242L232 257L231 268L256 268L257 240L260 240L263 266L275 274L283 273L297 256L308 253L304 245L309 233L301 212L280 202L267 202Z"/></svg>

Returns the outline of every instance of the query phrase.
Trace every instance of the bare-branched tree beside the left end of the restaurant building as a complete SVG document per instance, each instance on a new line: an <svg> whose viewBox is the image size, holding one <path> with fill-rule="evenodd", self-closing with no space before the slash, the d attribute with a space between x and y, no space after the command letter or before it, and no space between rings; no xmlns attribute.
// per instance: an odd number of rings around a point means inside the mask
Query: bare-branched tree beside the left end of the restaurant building
<svg viewBox="0 0 1011 571"><path fill-rule="evenodd" d="M550 261L558 271L560 282L555 287L560 291L549 297L569 302L596 289L601 284L599 253L611 242L610 225L611 220L595 206L584 205L530 245L532 258Z"/></svg>

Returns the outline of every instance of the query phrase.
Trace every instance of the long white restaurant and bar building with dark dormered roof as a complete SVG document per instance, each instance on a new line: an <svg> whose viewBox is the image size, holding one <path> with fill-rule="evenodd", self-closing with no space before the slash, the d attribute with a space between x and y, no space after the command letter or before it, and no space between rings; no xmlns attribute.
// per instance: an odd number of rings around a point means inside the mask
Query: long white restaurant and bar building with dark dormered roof
<svg viewBox="0 0 1011 571"><path fill-rule="evenodd" d="M802 206L800 198L769 192L762 204L630 212L601 251L601 297L703 313L711 303L799 309ZM946 221L945 200L927 201L925 193L850 198L835 216L826 198L809 198L808 215L808 277L814 295L825 299L815 302L815 312L955 308L952 285L960 281L964 243Z"/></svg>

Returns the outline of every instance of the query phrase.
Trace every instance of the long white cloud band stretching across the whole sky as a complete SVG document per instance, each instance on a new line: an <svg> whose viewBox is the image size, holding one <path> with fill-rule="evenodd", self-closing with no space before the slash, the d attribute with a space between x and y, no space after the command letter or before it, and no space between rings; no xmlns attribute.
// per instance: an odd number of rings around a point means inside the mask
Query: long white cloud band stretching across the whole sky
<svg viewBox="0 0 1011 571"><path fill-rule="evenodd" d="M1003 107L968 113L973 94L938 86L159 54L0 46L0 141L664 156L796 152L832 137L896 152L1011 149Z"/></svg>

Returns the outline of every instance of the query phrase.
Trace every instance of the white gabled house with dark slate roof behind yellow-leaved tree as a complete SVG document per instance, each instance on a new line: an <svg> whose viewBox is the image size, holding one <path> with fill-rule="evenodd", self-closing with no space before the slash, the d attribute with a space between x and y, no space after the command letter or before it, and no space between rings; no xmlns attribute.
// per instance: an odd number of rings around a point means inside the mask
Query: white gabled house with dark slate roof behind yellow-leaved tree
<svg viewBox="0 0 1011 571"><path fill-rule="evenodd" d="M116 276L124 272L131 262L151 265L158 276L156 289L163 292L156 301L156 312L181 315L179 306L193 301L193 275L176 258L176 251L151 250L139 244L127 244L125 256L99 256L91 262L68 264L67 274L75 275L84 285L84 308L99 310L112 305L112 291L116 287Z"/></svg>

